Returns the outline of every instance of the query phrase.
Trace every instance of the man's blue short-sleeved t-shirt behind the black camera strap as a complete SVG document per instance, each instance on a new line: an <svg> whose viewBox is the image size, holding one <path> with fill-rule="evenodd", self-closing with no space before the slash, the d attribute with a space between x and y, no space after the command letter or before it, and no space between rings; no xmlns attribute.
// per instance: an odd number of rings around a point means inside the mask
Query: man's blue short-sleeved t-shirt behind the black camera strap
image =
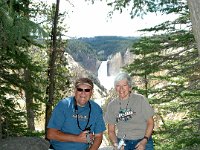
<svg viewBox="0 0 200 150"><path fill-rule="evenodd" d="M78 106L78 112L76 112L74 102L74 97L61 100L54 108L47 128L78 135L86 128L89 119L87 127L90 127L92 133L98 134L106 130L102 109L97 103L90 100L91 110L89 103L87 103L84 107ZM55 150L86 150L89 146L87 143L79 142L60 142L56 140L51 140L50 142Z"/></svg>

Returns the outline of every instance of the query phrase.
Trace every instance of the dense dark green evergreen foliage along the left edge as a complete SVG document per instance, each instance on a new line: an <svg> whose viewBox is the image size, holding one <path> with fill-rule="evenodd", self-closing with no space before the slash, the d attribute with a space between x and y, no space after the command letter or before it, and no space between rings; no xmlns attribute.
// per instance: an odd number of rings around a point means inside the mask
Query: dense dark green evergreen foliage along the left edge
<svg viewBox="0 0 200 150"><path fill-rule="evenodd" d="M42 46L37 38L44 31L39 25L30 21L26 14L25 1L0 1L0 123L1 138L8 136L22 136L27 133L27 113L24 105L24 91L29 91L36 101L42 99L42 83L38 76L42 72L42 65L33 61L28 47ZM24 70L31 72L30 82L24 80ZM31 106L35 112L38 104Z"/></svg>

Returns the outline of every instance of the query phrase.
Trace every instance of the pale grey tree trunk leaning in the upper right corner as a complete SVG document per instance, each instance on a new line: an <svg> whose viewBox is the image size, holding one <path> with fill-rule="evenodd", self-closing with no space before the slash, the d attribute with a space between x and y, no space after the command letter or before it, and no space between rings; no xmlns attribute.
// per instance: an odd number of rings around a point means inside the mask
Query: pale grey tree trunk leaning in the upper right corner
<svg viewBox="0 0 200 150"><path fill-rule="evenodd" d="M193 34L197 43L200 57L200 0L187 0L192 21Z"/></svg>

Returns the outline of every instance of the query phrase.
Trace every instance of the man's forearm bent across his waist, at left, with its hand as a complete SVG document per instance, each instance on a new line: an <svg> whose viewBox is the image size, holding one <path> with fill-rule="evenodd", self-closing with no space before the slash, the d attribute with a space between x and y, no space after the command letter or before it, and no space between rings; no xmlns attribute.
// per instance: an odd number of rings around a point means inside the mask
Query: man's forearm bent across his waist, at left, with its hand
<svg viewBox="0 0 200 150"><path fill-rule="evenodd" d="M81 132L79 135L75 134L66 134L57 129L48 128L47 130L47 138L49 140L57 140L61 142L81 142L87 143L86 139L87 131Z"/></svg>

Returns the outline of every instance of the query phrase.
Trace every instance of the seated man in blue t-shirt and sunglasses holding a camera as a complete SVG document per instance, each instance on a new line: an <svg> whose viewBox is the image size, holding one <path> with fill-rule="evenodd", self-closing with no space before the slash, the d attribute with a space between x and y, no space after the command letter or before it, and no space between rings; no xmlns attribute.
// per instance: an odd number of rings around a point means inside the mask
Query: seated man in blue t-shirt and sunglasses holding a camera
<svg viewBox="0 0 200 150"><path fill-rule="evenodd" d="M48 123L47 138L54 150L97 150L106 130L101 107L91 100L93 82L79 78L74 96L59 101Z"/></svg>

